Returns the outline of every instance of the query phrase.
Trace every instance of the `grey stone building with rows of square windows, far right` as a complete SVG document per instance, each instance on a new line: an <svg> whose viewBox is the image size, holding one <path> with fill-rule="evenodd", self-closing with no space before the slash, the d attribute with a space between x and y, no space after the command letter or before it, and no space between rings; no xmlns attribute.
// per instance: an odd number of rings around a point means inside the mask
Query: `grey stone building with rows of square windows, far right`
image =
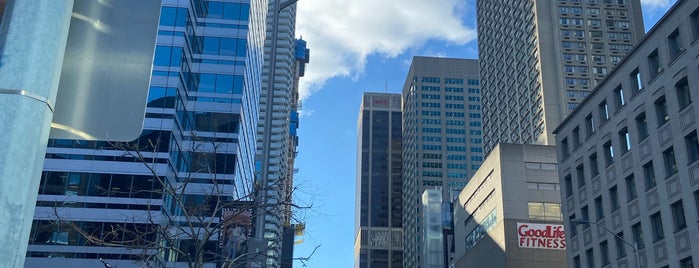
<svg viewBox="0 0 699 268"><path fill-rule="evenodd" d="M697 266L698 54L678 0L555 130L569 267Z"/></svg>

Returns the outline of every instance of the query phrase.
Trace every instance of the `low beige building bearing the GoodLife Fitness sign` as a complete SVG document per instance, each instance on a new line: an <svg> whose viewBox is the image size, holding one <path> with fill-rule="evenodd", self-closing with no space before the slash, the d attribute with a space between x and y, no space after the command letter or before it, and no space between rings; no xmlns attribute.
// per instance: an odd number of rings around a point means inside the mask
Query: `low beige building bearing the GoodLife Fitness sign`
<svg viewBox="0 0 699 268"><path fill-rule="evenodd" d="M502 144L454 202L450 267L565 267L556 149Z"/></svg>

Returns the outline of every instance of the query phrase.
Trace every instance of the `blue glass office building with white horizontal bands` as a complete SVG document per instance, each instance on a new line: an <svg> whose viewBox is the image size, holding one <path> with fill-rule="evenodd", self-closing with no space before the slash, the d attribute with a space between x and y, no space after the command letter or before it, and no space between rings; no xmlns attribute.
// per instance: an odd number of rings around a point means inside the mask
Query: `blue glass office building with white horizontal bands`
<svg viewBox="0 0 699 268"><path fill-rule="evenodd" d="M266 11L267 1L163 1L144 130L128 143L138 149L49 141L26 267L140 267L144 251L119 230L156 241L147 230L158 224L181 234L151 259L172 266L194 248L181 226L220 217L187 208L250 199Z"/></svg>

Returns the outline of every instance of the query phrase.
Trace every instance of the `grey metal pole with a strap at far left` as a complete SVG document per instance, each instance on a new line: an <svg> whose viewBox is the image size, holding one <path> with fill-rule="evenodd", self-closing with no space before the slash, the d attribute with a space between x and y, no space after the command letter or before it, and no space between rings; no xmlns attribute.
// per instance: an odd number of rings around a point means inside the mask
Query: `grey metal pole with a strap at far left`
<svg viewBox="0 0 699 268"><path fill-rule="evenodd" d="M73 0L9 0L0 27L0 263L23 267Z"/></svg>

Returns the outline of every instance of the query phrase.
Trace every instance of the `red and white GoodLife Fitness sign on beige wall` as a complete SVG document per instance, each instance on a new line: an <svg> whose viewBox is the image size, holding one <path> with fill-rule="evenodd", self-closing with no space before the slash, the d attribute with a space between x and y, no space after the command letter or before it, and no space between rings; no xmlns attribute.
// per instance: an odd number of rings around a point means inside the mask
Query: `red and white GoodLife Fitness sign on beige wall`
<svg viewBox="0 0 699 268"><path fill-rule="evenodd" d="M520 248L566 249L563 225L517 223L517 241Z"/></svg>

